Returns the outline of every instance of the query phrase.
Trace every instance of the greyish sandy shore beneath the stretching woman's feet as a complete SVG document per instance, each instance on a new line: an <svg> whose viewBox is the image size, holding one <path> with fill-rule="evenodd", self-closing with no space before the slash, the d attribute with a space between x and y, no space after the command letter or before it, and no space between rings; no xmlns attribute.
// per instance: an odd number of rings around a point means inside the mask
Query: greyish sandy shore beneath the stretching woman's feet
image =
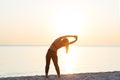
<svg viewBox="0 0 120 80"><path fill-rule="evenodd" d="M0 78L0 80L120 80L120 71L114 72L98 72L98 73L79 73L61 75L61 78L57 78L56 75L49 75L49 78L45 76L21 76L21 77L7 77Z"/></svg>

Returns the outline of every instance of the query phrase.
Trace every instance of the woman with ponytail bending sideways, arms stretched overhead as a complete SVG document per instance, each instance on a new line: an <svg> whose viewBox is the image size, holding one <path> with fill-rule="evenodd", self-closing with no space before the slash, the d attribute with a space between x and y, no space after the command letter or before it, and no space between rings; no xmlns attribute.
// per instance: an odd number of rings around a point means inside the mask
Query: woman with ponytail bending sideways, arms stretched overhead
<svg viewBox="0 0 120 80"><path fill-rule="evenodd" d="M68 37L73 37L75 40L69 42ZM57 50L61 47L65 47L66 53L68 53L69 45L76 41L77 41L77 36L66 35L66 36L61 36L61 37L57 38L52 43L52 45L50 46L50 48L48 49L47 54L46 54L46 66L45 66L46 78L48 77L48 71L49 71L49 65L50 65L51 59L53 60L57 75L58 75L58 77L60 77L60 69L58 66Z"/></svg>

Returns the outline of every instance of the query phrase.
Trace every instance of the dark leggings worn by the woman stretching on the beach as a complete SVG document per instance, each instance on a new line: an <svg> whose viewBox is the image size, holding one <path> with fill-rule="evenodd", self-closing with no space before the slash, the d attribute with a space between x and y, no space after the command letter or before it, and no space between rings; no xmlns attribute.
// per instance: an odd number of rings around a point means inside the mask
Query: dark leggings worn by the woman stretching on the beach
<svg viewBox="0 0 120 80"><path fill-rule="evenodd" d="M59 70L59 66L58 66L58 57L57 57L57 52L56 51L52 51L51 49L48 50L47 54L46 54L46 66L45 66L45 74L48 75L48 71L49 71L49 65L50 65L50 60L52 59L57 75L60 75L60 70Z"/></svg>

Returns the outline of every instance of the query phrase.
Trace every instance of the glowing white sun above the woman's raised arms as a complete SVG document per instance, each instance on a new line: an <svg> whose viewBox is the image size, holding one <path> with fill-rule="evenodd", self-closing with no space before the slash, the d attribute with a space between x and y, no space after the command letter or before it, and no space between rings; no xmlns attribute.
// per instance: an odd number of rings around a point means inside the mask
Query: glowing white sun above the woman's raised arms
<svg viewBox="0 0 120 80"><path fill-rule="evenodd" d="M79 12L62 11L55 16L54 27L58 34L78 35L83 31L84 20Z"/></svg>

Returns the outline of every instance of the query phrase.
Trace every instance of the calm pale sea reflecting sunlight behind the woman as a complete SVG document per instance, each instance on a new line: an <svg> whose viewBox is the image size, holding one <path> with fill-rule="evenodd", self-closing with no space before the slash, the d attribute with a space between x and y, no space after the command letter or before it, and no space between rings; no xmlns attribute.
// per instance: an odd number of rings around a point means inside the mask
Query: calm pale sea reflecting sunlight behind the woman
<svg viewBox="0 0 120 80"><path fill-rule="evenodd" d="M0 46L0 77L44 75L49 46ZM120 71L120 46L71 46L58 51L61 74ZM49 74L56 74L51 62Z"/></svg>

